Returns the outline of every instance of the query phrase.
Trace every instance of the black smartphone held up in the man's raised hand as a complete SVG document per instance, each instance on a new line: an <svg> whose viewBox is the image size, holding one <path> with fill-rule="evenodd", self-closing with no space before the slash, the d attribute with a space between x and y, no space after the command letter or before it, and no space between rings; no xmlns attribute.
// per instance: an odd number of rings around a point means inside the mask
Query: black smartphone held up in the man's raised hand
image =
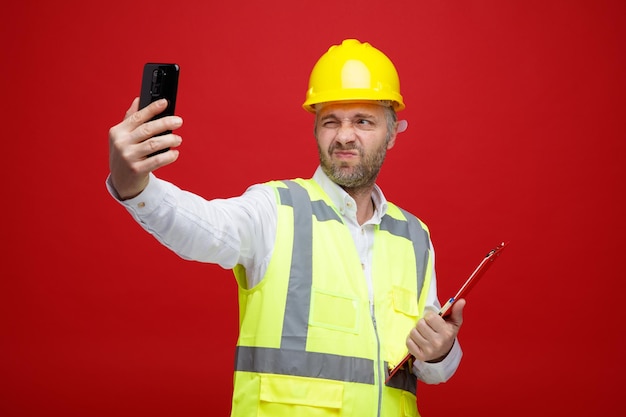
<svg viewBox="0 0 626 417"><path fill-rule="evenodd" d="M143 67L141 78L141 91L139 94L139 108L143 109L153 101L162 98L167 99L167 108L154 116L151 120L156 120L165 116L173 116L176 109L176 95L178 93L178 76L180 67L177 64L147 63ZM171 130L159 133L166 135L172 133ZM169 148L164 148L151 153L148 157L167 152Z"/></svg>

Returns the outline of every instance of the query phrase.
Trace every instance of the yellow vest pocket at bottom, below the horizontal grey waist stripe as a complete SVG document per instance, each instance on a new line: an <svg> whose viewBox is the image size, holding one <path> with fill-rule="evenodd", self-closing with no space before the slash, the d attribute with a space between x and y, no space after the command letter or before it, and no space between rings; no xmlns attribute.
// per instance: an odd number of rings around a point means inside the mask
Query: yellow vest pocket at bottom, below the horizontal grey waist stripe
<svg viewBox="0 0 626 417"><path fill-rule="evenodd" d="M343 383L289 375L261 374L258 417L339 416Z"/></svg>

